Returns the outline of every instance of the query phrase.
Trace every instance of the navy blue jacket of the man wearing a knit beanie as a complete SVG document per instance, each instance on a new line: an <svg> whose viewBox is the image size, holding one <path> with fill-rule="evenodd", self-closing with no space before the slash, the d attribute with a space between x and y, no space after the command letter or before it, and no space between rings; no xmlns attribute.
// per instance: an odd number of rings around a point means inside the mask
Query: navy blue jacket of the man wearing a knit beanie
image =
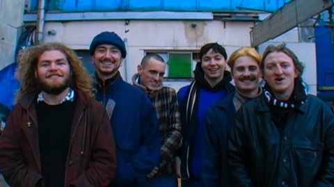
<svg viewBox="0 0 334 187"><path fill-rule="evenodd" d="M116 102L110 122L118 166L111 186L136 186L159 163L159 121L155 108L143 91L120 76L106 90L99 83L95 83L95 88L95 97L104 106L109 99Z"/></svg>

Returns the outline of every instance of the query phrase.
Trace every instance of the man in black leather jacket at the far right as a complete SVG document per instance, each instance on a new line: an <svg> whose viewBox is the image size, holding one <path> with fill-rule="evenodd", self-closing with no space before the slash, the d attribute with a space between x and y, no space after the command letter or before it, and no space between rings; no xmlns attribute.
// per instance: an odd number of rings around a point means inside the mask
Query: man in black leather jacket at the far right
<svg viewBox="0 0 334 187"><path fill-rule="evenodd" d="M302 81L285 44L262 56L263 93L241 106L229 138L230 186L333 186L334 115Z"/></svg>

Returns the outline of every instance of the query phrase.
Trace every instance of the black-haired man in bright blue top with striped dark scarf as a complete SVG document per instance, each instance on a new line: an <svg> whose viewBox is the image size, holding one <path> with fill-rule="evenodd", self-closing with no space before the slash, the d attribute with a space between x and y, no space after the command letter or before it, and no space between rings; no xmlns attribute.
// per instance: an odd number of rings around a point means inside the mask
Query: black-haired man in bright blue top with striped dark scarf
<svg viewBox="0 0 334 187"><path fill-rule="evenodd" d="M182 187L202 187L201 148L205 111L234 90L232 76L226 71L228 54L221 44L205 44L200 48L200 63L193 72L195 80L177 92L180 101L184 143L176 159Z"/></svg>

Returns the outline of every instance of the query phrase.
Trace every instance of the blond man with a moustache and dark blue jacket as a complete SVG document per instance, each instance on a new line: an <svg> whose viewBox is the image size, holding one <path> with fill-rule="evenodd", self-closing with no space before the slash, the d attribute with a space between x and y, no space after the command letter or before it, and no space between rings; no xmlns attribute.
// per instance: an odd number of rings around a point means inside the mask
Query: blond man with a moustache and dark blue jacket
<svg viewBox="0 0 334 187"><path fill-rule="evenodd" d="M237 49L228 60L235 90L206 111L201 165L203 186L229 187L229 129L241 105L262 93L260 63L260 54L250 47Z"/></svg>

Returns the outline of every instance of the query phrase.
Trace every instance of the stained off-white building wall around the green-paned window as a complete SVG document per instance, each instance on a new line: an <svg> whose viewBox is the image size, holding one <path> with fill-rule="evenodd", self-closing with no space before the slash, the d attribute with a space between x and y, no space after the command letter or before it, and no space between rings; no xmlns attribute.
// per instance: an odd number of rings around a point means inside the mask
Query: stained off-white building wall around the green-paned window
<svg viewBox="0 0 334 187"><path fill-rule="evenodd" d="M124 21L101 22L47 22L43 42L63 42L73 49L88 49L93 37L102 31L114 31L121 38L127 38L128 67L121 67L121 74L127 81L136 73L145 50L196 50L207 42L223 44L228 54L242 46L250 45L251 22L208 21L196 22L194 29L188 21ZM54 29L56 35L47 35ZM125 33L127 31L127 33ZM128 74L126 74L128 72ZM188 84L186 81L165 81L167 86L178 90Z"/></svg>

